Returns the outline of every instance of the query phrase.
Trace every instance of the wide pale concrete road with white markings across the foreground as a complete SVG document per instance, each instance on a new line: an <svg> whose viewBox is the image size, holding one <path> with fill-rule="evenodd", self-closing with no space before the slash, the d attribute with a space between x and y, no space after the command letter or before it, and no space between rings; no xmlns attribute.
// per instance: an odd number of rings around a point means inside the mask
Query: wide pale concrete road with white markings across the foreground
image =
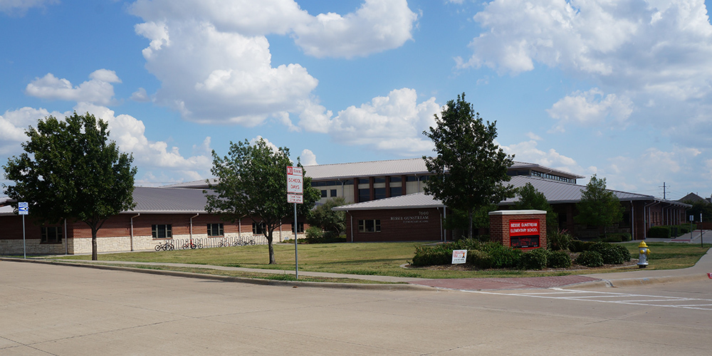
<svg viewBox="0 0 712 356"><path fill-rule="evenodd" d="M0 355L709 355L712 281L291 288L0 261Z"/></svg>

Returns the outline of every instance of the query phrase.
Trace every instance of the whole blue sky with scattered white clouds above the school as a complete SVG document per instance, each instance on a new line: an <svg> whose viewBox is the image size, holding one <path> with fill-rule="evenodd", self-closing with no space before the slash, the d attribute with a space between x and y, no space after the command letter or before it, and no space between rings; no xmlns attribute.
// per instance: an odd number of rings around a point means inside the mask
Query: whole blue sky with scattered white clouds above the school
<svg viewBox="0 0 712 356"><path fill-rule="evenodd" d="M434 154L424 130L465 93L515 161L710 197L707 8L0 0L0 164L21 154L28 127L73 112L108 122L137 186L209 178L213 150L260 137L303 164L422 157Z"/></svg>

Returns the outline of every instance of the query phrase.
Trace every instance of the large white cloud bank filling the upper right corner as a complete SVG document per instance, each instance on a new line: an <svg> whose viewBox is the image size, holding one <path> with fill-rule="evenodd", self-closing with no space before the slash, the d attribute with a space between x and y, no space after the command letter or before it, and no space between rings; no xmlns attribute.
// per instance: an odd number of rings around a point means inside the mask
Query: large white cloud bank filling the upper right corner
<svg viewBox="0 0 712 356"><path fill-rule="evenodd" d="M712 124L712 25L703 0L494 0L473 19L483 31L460 68L516 75L547 66L600 88L554 104L555 130L624 123L664 130L684 145Z"/></svg>

